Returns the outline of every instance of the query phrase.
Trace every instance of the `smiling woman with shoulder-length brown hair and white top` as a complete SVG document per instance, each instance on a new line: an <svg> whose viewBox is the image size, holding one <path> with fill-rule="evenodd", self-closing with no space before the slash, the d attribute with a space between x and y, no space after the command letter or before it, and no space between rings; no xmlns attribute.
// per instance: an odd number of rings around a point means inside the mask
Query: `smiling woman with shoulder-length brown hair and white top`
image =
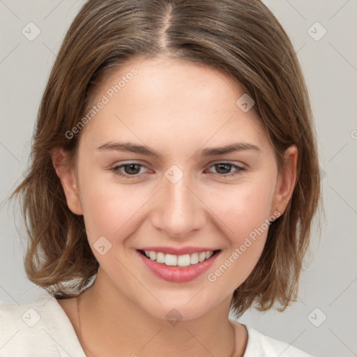
<svg viewBox="0 0 357 357"><path fill-rule="evenodd" d="M51 296L1 305L5 356L309 356L228 319L296 301L319 202L307 89L263 3L89 0L32 159L13 195Z"/></svg>

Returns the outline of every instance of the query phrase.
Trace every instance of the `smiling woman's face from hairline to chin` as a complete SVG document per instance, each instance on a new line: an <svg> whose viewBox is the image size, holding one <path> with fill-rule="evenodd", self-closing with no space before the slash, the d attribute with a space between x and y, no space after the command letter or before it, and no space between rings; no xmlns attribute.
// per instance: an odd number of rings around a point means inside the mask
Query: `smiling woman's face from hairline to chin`
<svg viewBox="0 0 357 357"><path fill-rule="evenodd" d="M250 98L216 70L157 57L112 73L93 105L65 191L103 284L161 319L229 307L294 181L278 175ZM218 252L199 262L206 251Z"/></svg>

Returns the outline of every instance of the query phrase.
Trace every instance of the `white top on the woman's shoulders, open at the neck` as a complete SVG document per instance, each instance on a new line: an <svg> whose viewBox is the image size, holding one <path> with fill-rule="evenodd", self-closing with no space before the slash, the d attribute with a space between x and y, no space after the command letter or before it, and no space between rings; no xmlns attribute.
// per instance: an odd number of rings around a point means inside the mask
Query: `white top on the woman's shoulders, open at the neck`
<svg viewBox="0 0 357 357"><path fill-rule="evenodd" d="M248 344L243 357L312 357L285 342L244 325ZM66 312L54 296L29 303L0 302L1 357L86 357Z"/></svg>

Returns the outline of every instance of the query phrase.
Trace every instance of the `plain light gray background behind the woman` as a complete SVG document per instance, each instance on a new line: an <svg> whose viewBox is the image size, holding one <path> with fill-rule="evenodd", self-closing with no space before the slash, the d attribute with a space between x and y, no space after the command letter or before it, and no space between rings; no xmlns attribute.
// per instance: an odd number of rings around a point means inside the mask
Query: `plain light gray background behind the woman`
<svg viewBox="0 0 357 357"><path fill-rule="evenodd" d="M0 0L0 202L26 170L47 77L82 3ZM357 356L357 0L264 3L289 34L310 91L326 220L321 236L312 231L299 301L282 313L252 309L239 321L317 357ZM22 34L29 22L41 31L33 41ZM19 216L13 206L0 206L0 301L43 295L25 277Z"/></svg>

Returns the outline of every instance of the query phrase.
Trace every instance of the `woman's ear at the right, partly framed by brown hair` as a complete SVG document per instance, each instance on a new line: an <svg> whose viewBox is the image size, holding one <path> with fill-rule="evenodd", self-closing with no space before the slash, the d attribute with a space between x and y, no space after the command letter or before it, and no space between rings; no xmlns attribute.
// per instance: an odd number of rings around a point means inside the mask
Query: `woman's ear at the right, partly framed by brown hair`
<svg viewBox="0 0 357 357"><path fill-rule="evenodd" d="M284 167L278 173L278 180L275 186L273 205L271 214L278 210L280 215L284 213L293 195L296 184L296 166L298 162L298 148L295 145L289 146L284 153Z"/></svg>

